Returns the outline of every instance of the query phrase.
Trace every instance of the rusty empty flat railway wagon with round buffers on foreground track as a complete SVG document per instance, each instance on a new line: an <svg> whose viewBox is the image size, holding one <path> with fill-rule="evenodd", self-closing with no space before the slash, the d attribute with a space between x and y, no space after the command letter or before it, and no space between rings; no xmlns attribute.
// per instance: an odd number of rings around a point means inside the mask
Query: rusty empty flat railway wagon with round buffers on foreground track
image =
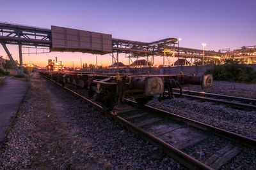
<svg viewBox="0 0 256 170"><path fill-rule="evenodd" d="M195 76L193 74L102 74L102 73L52 73L42 72L44 76L65 86L67 84L87 89L88 96L102 103L106 110L122 104L125 98L134 97L140 105L147 104L154 96L159 101L173 98L172 89L189 85L212 85L212 75ZM168 94L166 96L165 94Z"/></svg>

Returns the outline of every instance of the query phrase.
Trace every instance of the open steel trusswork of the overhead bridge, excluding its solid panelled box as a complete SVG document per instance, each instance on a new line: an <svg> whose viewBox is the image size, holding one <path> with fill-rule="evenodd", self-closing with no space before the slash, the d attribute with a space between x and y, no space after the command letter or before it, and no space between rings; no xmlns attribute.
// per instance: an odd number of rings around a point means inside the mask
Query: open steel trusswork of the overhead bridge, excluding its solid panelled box
<svg viewBox="0 0 256 170"><path fill-rule="evenodd" d="M23 74L22 71L22 46L38 46L44 48L51 48L51 29L44 29L39 27L31 27L26 25L8 24L0 22L0 43L4 47L10 60L12 60L13 66L17 70L17 73ZM179 57L183 58L198 58L202 59L203 50L184 48L175 48L178 44L176 38L166 38L151 43L145 43L140 41L130 41L125 39L112 39L113 52L112 62L113 67L118 67L118 54L125 53L129 57L129 62L132 59L139 57L145 57L147 63L151 62L154 65L154 56L163 57L163 65L170 66L174 64L172 58L179 53ZM13 61L12 55L8 51L6 44L19 46L19 59L20 67L18 67ZM169 52L168 52L169 50ZM29 52L28 52L29 53ZM37 51L35 53L38 53ZM44 50L43 50L44 53ZM215 52L204 50L205 59L217 59L223 60L228 57L234 57L236 59L247 59L248 63L252 63L253 59L256 59L256 46L243 46L242 49L234 50L233 52Z"/></svg>

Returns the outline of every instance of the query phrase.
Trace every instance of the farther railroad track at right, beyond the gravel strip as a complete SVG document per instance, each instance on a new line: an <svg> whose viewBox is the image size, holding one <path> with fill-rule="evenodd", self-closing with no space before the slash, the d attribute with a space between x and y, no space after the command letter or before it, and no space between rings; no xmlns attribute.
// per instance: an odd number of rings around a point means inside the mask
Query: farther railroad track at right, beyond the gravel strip
<svg viewBox="0 0 256 170"><path fill-rule="evenodd" d="M177 92L179 92L179 89L173 89L173 94L175 96L179 95L179 93ZM210 101L214 103L227 104L235 108L246 108L249 110L256 110L256 99L227 96L221 94L212 94L207 92L196 92L193 90L182 90L182 96L189 97L192 99Z"/></svg>

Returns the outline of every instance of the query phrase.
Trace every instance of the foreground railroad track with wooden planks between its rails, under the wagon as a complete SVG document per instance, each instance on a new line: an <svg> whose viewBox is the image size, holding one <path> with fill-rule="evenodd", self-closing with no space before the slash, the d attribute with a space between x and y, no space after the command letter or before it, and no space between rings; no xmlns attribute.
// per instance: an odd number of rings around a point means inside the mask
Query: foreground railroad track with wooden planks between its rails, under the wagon
<svg viewBox="0 0 256 170"><path fill-rule="evenodd" d="M62 87L60 83L57 84ZM92 97L86 97L86 90L75 89L72 85L63 88L103 110L99 103L92 101ZM239 157L246 148L256 148L255 139L151 106L138 106L129 99L126 99L126 103L130 106L128 110L104 113L129 131L150 141L160 153L167 153L189 169L220 169L234 157Z"/></svg>

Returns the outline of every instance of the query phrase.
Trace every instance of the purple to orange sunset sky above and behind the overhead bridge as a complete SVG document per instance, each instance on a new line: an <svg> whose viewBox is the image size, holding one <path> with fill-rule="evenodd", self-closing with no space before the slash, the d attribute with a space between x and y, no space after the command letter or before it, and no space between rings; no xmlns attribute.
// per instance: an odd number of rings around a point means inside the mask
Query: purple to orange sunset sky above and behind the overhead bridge
<svg viewBox="0 0 256 170"><path fill-rule="evenodd" d="M205 50L237 49L256 45L256 1L3 1L0 22L51 28L51 25L112 34L113 38L156 41L182 38L180 46ZM8 45L15 59L18 46ZM25 51L25 49L24 49ZM6 57L0 46L0 55ZM120 55L120 61L128 59ZM24 63L46 66L47 59L62 60L65 66L95 64L88 53L52 52L24 54ZM155 58L161 64L162 57ZM110 55L98 55L98 65L111 65Z"/></svg>

